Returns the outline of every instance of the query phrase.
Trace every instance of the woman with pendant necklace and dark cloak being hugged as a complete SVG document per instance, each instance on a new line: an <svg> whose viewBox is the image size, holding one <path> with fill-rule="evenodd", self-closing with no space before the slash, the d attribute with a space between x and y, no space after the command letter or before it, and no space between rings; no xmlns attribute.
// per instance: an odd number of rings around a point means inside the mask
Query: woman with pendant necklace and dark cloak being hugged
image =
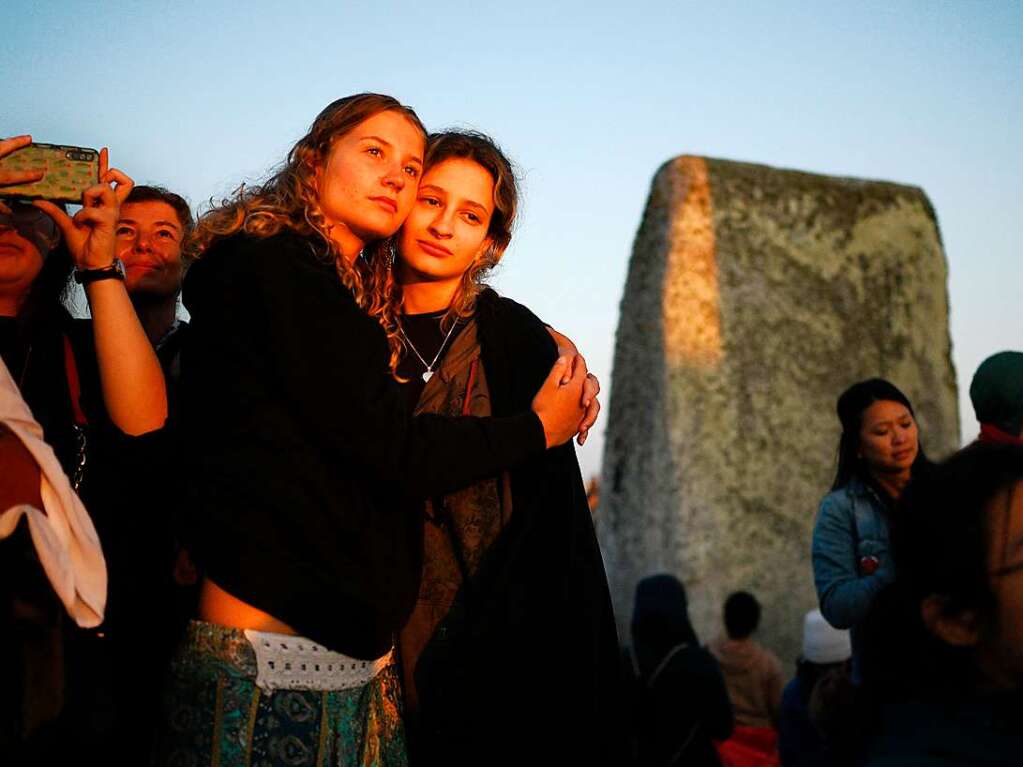
<svg viewBox="0 0 1023 767"><path fill-rule="evenodd" d="M542 322L486 286L518 198L491 139L430 137L393 266L373 262L416 413L506 417L558 357ZM399 641L413 763L623 763L618 637L571 443L436 493L424 515L424 575Z"/></svg>

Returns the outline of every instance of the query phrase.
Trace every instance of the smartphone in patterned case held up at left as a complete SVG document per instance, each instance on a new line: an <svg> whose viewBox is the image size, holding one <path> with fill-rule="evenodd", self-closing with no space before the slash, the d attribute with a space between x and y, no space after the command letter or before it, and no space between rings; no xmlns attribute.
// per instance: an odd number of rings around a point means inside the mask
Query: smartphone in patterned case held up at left
<svg viewBox="0 0 1023 767"><path fill-rule="evenodd" d="M0 157L3 171L40 169L46 172L41 180L0 186L0 195L81 202L82 192L99 182L99 152L84 146L33 143Z"/></svg>

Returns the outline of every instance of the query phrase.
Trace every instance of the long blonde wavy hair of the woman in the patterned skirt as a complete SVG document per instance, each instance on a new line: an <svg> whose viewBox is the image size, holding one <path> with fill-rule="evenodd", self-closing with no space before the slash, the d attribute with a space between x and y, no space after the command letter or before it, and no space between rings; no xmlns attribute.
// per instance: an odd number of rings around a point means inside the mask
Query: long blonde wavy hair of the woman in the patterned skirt
<svg viewBox="0 0 1023 767"><path fill-rule="evenodd" d="M199 217L189 238L196 258L214 242L236 232L270 237L290 229L304 236L322 240L323 254L332 257L338 277L352 291L363 308L369 297L365 280L369 277L359 259L346 259L330 238L316 191L316 170L326 163L333 142L364 120L382 111L397 111L414 125L424 136L427 129L418 116L391 96L358 93L331 102L313 121L309 132L287 152L283 164L270 178L255 186L239 186L230 197L222 199Z"/></svg>

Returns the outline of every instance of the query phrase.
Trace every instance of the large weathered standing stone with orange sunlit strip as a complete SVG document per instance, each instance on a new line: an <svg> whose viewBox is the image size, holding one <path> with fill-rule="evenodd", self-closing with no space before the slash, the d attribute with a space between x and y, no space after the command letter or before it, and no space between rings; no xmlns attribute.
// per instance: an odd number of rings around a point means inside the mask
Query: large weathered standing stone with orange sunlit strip
<svg viewBox="0 0 1023 767"><path fill-rule="evenodd" d="M657 173L615 349L597 526L623 636L636 581L686 585L703 639L732 590L788 664L814 606L835 400L881 375L932 455L959 444L946 267L915 187L696 156Z"/></svg>

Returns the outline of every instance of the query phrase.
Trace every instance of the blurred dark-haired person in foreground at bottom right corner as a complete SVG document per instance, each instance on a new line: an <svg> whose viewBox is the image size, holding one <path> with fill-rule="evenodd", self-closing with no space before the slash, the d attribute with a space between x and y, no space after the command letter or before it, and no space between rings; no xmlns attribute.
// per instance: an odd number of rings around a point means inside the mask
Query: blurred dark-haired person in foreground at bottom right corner
<svg viewBox="0 0 1023 767"><path fill-rule="evenodd" d="M868 624L868 764L1021 764L1023 447L974 443L914 481L892 543L898 580Z"/></svg>

